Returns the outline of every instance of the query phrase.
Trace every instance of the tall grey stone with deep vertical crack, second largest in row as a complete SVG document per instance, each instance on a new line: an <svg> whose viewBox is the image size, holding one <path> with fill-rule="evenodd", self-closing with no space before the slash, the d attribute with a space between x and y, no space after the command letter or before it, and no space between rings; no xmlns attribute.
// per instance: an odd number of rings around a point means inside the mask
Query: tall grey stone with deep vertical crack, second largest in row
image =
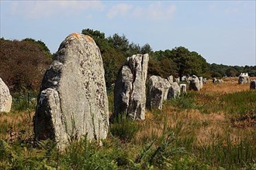
<svg viewBox="0 0 256 170"><path fill-rule="evenodd" d="M126 114L145 119L148 54L128 57L119 70L114 87L114 117Z"/></svg>

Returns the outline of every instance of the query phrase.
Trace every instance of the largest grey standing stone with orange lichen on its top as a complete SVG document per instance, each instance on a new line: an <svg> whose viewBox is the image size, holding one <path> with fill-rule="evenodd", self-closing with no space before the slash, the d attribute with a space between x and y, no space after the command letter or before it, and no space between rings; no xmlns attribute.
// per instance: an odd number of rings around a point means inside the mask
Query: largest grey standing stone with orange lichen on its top
<svg viewBox="0 0 256 170"><path fill-rule="evenodd" d="M57 141L63 148L74 138L106 138L109 104L99 47L90 36L73 33L61 43L43 77L37 99L37 140Z"/></svg>

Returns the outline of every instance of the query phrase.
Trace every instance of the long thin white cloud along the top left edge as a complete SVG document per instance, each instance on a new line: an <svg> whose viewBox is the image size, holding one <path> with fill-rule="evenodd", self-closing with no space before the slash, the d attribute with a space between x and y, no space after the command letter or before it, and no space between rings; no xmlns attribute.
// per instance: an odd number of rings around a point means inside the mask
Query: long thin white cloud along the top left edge
<svg viewBox="0 0 256 170"><path fill-rule="evenodd" d="M12 2L12 15L24 15L30 19L52 17L56 15L75 15L80 12L102 10L99 1L19 1Z"/></svg>

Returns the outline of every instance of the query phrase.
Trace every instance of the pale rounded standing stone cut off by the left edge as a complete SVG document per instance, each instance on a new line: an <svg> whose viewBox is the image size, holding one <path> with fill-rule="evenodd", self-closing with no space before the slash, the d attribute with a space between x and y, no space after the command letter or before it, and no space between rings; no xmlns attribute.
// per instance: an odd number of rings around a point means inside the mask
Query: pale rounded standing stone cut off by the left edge
<svg viewBox="0 0 256 170"><path fill-rule="evenodd" d="M5 82L0 78L0 112L9 112L12 107L12 96Z"/></svg>

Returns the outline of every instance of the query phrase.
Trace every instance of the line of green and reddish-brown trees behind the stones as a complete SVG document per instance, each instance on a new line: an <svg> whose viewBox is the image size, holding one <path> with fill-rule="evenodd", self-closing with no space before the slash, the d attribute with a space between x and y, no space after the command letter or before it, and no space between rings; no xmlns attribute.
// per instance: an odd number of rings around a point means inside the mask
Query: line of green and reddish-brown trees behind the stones
<svg viewBox="0 0 256 170"><path fill-rule="evenodd" d="M106 37L104 32L83 29L82 34L92 36L102 53L105 69L106 86L112 87L120 66L126 58L137 53L148 53L148 76L157 75L182 77L197 75L207 78L238 76L247 72L256 76L256 66L227 66L206 62L199 53L178 46L164 51L153 51L147 43L140 46L130 42L126 36L114 34ZM50 53L44 42L35 39L8 40L0 39L0 77L8 84L11 91L38 90L40 81L54 54Z"/></svg>

